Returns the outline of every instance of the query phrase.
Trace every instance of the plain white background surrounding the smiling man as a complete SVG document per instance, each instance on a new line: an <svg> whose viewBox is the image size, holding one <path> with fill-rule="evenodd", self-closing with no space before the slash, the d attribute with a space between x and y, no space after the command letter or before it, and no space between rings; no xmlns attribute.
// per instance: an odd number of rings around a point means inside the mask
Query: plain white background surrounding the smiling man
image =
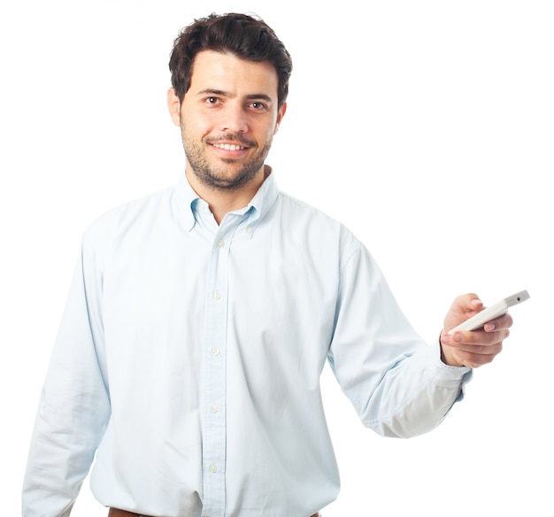
<svg viewBox="0 0 554 517"><path fill-rule="evenodd" d="M281 189L364 241L422 336L458 294L531 294L504 352L425 436L363 428L326 370L342 491L324 516L552 515L554 16L534 0L4 3L1 512L20 512L81 233L178 180L173 38L233 11L257 12L294 59L268 159ZM73 515L105 514L85 482Z"/></svg>

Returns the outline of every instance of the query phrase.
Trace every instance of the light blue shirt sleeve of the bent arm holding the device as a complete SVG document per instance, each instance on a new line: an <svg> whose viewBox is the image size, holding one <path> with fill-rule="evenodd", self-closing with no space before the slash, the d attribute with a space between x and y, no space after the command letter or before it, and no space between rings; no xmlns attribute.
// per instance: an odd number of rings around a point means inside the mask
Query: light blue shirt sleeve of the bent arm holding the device
<svg viewBox="0 0 554 517"><path fill-rule="evenodd" d="M396 303L362 244L345 260L328 360L360 420L382 436L435 428L463 397L470 369L442 363Z"/></svg>

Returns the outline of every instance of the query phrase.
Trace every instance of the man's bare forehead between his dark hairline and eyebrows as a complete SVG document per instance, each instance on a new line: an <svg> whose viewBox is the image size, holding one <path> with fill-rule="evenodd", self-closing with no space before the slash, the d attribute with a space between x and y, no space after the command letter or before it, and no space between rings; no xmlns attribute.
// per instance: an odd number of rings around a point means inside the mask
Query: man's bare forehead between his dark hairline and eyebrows
<svg viewBox="0 0 554 517"><path fill-rule="evenodd" d="M278 86L277 71L269 61L249 61L229 52L202 50L193 62L189 91L219 89L237 95L258 92L277 98Z"/></svg>

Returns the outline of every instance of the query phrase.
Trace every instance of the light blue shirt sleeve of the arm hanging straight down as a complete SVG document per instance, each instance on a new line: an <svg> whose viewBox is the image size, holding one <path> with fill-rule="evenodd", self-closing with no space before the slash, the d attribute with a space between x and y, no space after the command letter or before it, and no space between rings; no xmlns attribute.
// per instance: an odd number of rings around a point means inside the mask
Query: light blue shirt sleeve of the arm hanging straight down
<svg viewBox="0 0 554 517"><path fill-rule="evenodd" d="M101 274L83 240L42 388L23 482L23 517L65 517L110 415L104 372Z"/></svg>

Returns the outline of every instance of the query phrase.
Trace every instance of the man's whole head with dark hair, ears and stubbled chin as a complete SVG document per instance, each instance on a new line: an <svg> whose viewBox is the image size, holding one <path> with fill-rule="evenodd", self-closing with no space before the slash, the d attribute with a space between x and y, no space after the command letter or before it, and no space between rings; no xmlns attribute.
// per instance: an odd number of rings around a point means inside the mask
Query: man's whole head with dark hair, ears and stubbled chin
<svg viewBox="0 0 554 517"><path fill-rule="evenodd" d="M272 29L250 16L212 15L181 32L167 104L196 192L248 197L258 189L287 109L291 67Z"/></svg>

